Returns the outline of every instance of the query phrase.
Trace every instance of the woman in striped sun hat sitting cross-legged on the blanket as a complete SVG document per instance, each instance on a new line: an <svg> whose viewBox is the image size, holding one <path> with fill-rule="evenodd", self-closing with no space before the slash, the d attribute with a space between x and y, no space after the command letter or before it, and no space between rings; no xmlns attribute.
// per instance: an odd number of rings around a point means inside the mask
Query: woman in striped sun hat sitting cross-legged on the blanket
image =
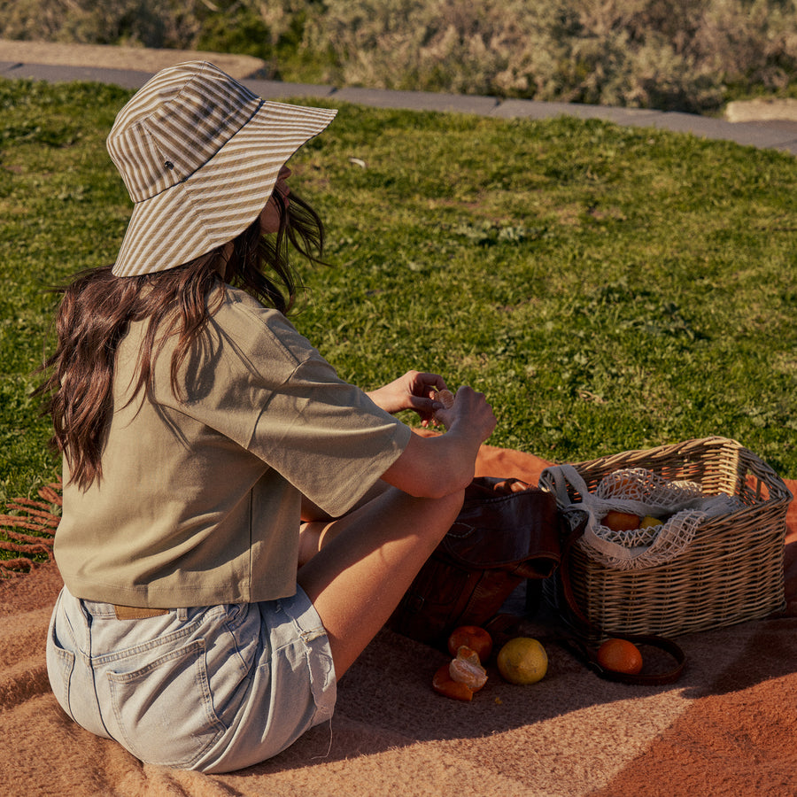
<svg viewBox="0 0 797 797"><path fill-rule="evenodd" d="M66 712L146 762L240 769L328 719L495 424L434 374L360 391L287 321L289 252L318 259L323 228L285 162L334 115L190 62L108 137L134 210L65 290L41 389L65 482L47 662Z"/></svg>

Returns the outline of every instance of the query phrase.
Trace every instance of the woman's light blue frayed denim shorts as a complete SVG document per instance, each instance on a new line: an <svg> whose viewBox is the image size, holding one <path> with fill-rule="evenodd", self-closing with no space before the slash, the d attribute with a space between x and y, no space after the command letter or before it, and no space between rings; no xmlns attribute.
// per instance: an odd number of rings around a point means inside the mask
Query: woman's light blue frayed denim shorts
<svg viewBox="0 0 797 797"><path fill-rule="evenodd" d="M58 596L50 685L82 727L143 762L239 770L332 716L335 670L321 619L291 598L117 619L108 603Z"/></svg>

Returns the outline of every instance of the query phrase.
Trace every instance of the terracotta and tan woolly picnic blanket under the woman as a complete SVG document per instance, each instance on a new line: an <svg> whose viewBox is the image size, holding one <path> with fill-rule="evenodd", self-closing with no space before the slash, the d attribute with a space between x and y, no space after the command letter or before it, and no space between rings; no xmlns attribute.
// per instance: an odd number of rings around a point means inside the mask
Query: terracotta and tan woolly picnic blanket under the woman
<svg viewBox="0 0 797 797"><path fill-rule="evenodd" d="M479 474L536 484L545 466L485 446ZM493 673L488 689L459 703L430 689L443 654L383 631L341 681L331 724L271 761L214 776L143 765L61 712L43 654L61 582L43 565L0 581L3 793L793 797L797 512L788 525L789 610L679 638L689 664L676 685L609 683L550 646L539 684L506 685ZM525 631L544 634L535 623Z"/></svg>

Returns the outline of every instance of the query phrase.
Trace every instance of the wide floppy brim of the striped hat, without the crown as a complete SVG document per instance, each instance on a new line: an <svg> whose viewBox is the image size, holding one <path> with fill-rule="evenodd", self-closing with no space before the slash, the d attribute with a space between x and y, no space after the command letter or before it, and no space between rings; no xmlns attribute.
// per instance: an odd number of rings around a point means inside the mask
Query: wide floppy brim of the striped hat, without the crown
<svg viewBox="0 0 797 797"><path fill-rule="evenodd" d="M166 271L231 241L262 211L285 162L336 113L263 102L204 166L134 205L113 274Z"/></svg>

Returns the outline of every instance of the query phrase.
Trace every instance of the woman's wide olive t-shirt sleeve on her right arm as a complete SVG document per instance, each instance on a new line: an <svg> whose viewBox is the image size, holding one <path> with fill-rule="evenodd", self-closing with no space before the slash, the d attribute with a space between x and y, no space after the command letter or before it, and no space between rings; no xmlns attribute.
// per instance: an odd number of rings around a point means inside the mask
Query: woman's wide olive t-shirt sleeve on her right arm
<svg viewBox="0 0 797 797"><path fill-rule="evenodd" d="M209 333L188 363L182 412L330 515L352 507L406 448L411 429L340 379L282 313L228 289Z"/></svg>

